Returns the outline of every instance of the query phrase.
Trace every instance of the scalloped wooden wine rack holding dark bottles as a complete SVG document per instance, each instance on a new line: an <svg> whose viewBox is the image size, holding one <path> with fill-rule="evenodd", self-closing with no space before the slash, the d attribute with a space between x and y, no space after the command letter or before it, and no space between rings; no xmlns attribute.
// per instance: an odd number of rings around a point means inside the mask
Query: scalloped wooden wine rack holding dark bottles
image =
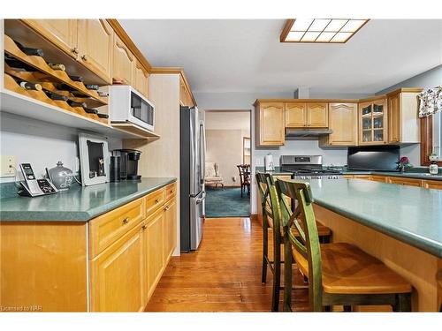
<svg viewBox="0 0 442 331"><path fill-rule="evenodd" d="M89 90L80 81L70 79L65 71L53 70L42 56L29 56L22 52L18 45L6 34L4 34L4 53L18 60L34 71L22 71L11 68L4 63L4 87L18 94L26 95L41 102L57 106L82 117L109 124L108 118L100 118L97 114L88 113L83 107L72 107L69 102L84 102L89 109L103 107L108 104L107 98L100 96L95 90ZM14 79L22 79L31 83L38 83L43 91L27 90L20 87ZM61 87L61 88L60 88ZM65 89L63 89L65 87ZM67 89L67 90L66 90ZM44 92L64 95L67 100L53 100ZM75 94L75 95L74 95Z"/></svg>

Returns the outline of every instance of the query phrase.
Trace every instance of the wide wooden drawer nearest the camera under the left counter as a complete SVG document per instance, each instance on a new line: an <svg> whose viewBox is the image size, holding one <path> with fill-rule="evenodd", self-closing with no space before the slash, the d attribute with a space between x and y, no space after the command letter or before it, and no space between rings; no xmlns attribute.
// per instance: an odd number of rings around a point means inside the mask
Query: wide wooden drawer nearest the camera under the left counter
<svg viewBox="0 0 442 331"><path fill-rule="evenodd" d="M90 259L133 229L144 217L144 199L137 199L89 222Z"/></svg>

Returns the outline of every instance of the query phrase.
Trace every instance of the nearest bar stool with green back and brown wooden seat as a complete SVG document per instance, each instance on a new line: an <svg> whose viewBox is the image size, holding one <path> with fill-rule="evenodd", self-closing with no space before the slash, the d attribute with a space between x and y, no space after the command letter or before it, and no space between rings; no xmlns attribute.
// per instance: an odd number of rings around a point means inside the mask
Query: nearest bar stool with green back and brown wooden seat
<svg viewBox="0 0 442 331"><path fill-rule="evenodd" d="M411 285L384 263L353 244L319 244L308 183L278 180L277 194L269 191L272 209L281 207L285 244L285 281L292 283L292 259L309 278L309 305L314 312L343 305L391 305L395 312L411 311ZM286 197L299 204L292 213ZM279 205L279 206L278 206ZM276 215L276 213L274 213ZM293 233L293 228L297 233ZM291 311L292 290L284 291L284 310Z"/></svg>

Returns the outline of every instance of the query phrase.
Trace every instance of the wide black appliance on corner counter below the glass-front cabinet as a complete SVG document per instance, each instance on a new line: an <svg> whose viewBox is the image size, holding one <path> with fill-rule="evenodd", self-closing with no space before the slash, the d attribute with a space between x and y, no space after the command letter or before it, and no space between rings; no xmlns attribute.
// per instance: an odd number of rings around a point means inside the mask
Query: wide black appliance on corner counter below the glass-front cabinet
<svg viewBox="0 0 442 331"><path fill-rule="evenodd" d="M399 146L348 147L349 170L399 171Z"/></svg>

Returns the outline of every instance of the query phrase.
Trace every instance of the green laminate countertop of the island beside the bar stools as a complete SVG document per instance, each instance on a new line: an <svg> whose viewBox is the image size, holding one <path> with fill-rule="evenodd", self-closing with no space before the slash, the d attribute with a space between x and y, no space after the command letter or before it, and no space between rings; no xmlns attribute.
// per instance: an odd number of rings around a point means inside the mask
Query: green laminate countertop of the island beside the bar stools
<svg viewBox="0 0 442 331"><path fill-rule="evenodd" d="M442 190L362 179L312 179L315 203L442 258Z"/></svg>

